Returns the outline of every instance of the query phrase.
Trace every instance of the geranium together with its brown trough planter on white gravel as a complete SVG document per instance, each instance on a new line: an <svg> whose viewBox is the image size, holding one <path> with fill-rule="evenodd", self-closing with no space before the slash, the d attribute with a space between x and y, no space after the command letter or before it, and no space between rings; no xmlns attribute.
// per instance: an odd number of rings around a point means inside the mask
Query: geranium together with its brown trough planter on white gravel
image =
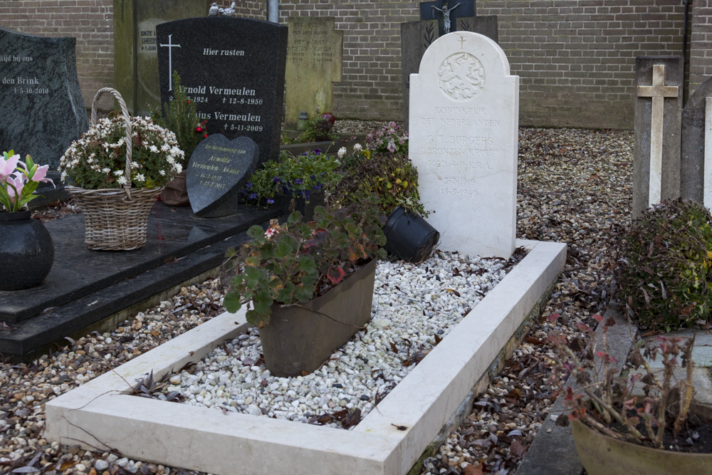
<svg viewBox="0 0 712 475"><path fill-rule="evenodd" d="M317 207L315 221L299 212L229 253L234 273L224 299L260 328L265 365L273 375L313 372L371 317L377 257L384 236L377 208Z"/></svg>

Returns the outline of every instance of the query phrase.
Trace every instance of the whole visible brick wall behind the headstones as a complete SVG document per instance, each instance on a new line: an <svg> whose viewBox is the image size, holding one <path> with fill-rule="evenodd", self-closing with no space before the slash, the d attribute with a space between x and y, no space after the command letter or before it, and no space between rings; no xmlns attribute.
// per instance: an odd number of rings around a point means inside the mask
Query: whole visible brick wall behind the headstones
<svg viewBox="0 0 712 475"><path fill-rule="evenodd" d="M711 0L712 1L712 0ZM75 36L85 102L112 83L112 0L0 0L0 26ZM219 2L226 6L228 0ZM400 119L399 24L419 19L417 0L280 0L288 16L335 16L344 33L340 118ZM238 14L266 19L266 0ZM684 0L478 0L496 15L500 45L520 76L520 124L632 127L636 56L679 54ZM712 74L712 7L693 0L692 88ZM89 97L88 97L89 96Z"/></svg>

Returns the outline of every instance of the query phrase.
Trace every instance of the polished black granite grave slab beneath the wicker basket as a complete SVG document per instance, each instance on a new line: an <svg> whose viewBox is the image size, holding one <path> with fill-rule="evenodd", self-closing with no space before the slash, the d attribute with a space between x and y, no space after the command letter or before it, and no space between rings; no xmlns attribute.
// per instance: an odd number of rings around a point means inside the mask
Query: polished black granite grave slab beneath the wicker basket
<svg viewBox="0 0 712 475"><path fill-rule="evenodd" d="M0 291L0 355L26 355L219 266L247 229L282 216L284 207L239 205L232 216L202 219L157 202L147 244L127 253L90 251L82 214L48 221L56 258L41 284Z"/></svg>

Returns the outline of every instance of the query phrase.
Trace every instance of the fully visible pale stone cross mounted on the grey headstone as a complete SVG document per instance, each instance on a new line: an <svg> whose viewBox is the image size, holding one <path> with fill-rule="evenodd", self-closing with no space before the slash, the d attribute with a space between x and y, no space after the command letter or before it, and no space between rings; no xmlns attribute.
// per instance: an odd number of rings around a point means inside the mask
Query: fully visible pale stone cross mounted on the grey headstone
<svg viewBox="0 0 712 475"><path fill-rule="evenodd" d="M665 84L665 65L653 66L653 85L639 85L639 98L653 98L650 114L650 178L648 206L659 203L663 168L663 110L665 98L676 98L678 87Z"/></svg>

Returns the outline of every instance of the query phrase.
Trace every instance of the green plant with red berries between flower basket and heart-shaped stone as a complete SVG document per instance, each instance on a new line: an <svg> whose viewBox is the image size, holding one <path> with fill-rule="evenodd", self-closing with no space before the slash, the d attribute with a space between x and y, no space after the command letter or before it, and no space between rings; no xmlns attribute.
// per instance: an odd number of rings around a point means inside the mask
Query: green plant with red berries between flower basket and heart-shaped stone
<svg viewBox="0 0 712 475"><path fill-rule="evenodd" d="M153 122L164 127L176 135L178 148L185 152L181 165L186 167L193 150L205 137L208 136L207 120L200 120L194 101L190 100L186 88L180 84L178 71L173 72L174 96L165 106L166 115L161 110L151 108Z"/></svg>

